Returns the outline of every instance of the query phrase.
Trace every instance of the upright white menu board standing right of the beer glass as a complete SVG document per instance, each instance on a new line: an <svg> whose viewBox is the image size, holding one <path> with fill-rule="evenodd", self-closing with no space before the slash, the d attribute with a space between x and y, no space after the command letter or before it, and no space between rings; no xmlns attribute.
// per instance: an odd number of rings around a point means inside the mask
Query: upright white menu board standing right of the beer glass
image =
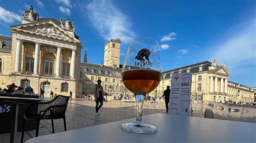
<svg viewBox="0 0 256 143"><path fill-rule="evenodd" d="M168 113L188 116L190 113L190 91L192 73L172 74Z"/></svg>

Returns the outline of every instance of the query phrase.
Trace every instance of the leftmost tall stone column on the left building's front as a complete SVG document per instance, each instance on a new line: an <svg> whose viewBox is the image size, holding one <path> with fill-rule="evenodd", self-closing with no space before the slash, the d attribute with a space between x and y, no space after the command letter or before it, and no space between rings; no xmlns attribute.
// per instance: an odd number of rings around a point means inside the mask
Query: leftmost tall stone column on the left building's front
<svg viewBox="0 0 256 143"><path fill-rule="evenodd" d="M16 48L16 59L15 59L15 73L21 73L21 56L22 56L22 40L17 39L17 48Z"/></svg>

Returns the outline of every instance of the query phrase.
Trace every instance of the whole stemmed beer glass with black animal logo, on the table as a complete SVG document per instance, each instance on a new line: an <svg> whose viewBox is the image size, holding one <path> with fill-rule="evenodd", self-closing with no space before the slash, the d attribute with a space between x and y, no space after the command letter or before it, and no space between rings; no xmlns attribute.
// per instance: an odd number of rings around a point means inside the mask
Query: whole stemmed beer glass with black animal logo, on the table
<svg viewBox="0 0 256 143"><path fill-rule="evenodd" d="M151 38L138 38L129 42L122 68L125 87L134 93L137 105L136 120L122 124L125 131L155 133L157 128L143 123L142 109L147 93L154 90L161 80L161 63L158 42Z"/></svg>

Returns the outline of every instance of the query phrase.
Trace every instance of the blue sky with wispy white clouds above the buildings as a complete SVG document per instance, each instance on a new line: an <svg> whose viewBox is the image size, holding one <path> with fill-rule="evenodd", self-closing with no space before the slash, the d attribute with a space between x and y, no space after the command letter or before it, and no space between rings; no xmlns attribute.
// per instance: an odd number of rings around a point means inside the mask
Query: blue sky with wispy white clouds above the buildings
<svg viewBox="0 0 256 143"><path fill-rule="evenodd" d="M0 34L11 35L23 10L33 5L41 18L69 16L87 47L90 63L103 62L104 44L138 37L159 41L163 70L217 59L227 62L229 80L256 87L256 1L36 0L0 1Z"/></svg>

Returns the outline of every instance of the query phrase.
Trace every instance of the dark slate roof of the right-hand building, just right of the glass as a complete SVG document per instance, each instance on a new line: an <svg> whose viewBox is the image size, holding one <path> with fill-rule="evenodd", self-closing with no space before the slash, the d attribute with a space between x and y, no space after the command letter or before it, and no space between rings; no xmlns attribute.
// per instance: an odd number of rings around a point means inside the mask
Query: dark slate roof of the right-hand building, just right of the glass
<svg viewBox="0 0 256 143"><path fill-rule="evenodd" d="M203 65L203 70L199 71L199 67L201 65ZM208 67L210 66L212 66L212 62L204 61L204 62L194 63L192 65L188 65L188 66L184 66L176 69L166 70L166 71L163 71L163 74L166 74L165 78L170 78L172 73L179 73L180 70L181 70L181 73L186 73L187 69L190 69L190 72L192 73L200 73L203 71L208 71L209 70Z"/></svg>

